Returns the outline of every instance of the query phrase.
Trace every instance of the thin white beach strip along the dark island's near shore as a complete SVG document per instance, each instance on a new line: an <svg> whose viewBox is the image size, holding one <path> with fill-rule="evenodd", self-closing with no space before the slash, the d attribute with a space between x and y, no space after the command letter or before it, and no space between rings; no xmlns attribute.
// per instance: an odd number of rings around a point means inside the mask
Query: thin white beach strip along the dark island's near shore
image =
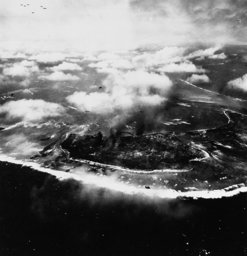
<svg viewBox="0 0 247 256"><path fill-rule="evenodd" d="M164 173L164 172L169 172L169 173L181 173L181 172L188 172L191 171L191 169L188 170L180 170L180 169L163 169L163 170L153 170L153 171L144 171L144 170L133 170L133 169L129 169L126 167L121 167L121 166L117 166L117 165L111 165L111 164L102 164L99 162L94 162L94 161L90 161L90 160L80 160L80 159L74 159L74 158L68 158L69 160L73 160L73 161L77 161L77 162L81 162L81 163L87 163L90 165L97 165L97 166L101 166L101 167L108 167L111 169L116 169L116 170L120 170L120 171L127 171L130 173Z"/></svg>

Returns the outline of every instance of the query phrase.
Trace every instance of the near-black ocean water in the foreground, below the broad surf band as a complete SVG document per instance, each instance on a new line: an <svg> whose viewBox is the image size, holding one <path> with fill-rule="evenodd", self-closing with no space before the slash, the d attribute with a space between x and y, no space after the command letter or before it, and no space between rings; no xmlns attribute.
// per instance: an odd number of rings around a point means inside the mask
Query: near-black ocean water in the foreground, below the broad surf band
<svg viewBox="0 0 247 256"><path fill-rule="evenodd" d="M247 194L148 199L0 162L0 255L247 255Z"/></svg>

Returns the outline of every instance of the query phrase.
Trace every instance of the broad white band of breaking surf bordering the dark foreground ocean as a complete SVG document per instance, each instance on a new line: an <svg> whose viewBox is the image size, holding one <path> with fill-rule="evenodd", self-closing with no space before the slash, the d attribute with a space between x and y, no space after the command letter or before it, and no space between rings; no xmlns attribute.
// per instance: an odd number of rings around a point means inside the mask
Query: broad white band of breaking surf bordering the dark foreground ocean
<svg viewBox="0 0 247 256"><path fill-rule="evenodd" d="M222 197L232 197L234 195L239 194L240 192L247 192L247 187L244 184L237 184L233 186L229 186L223 189L215 189L215 190L198 190L198 191L187 191L181 192L176 191L174 189L146 189L146 188L137 188L133 185L124 184L115 180L108 176L96 176L91 174L72 174L66 173L62 171L52 170L50 168L41 167L38 163L35 162L25 162L22 160L17 160L13 157L8 157L5 155L0 155L0 161L7 161L10 163L20 164L22 166L31 167L34 170L45 172L54 175L60 180L66 180L69 178L81 181L85 184L94 185L102 188L111 189L114 191L123 192L125 194L137 194L137 195L144 195L152 198L168 198L168 199L175 199L177 197L185 197L185 198L205 198L205 199L216 199ZM229 189L233 189L230 190Z"/></svg>

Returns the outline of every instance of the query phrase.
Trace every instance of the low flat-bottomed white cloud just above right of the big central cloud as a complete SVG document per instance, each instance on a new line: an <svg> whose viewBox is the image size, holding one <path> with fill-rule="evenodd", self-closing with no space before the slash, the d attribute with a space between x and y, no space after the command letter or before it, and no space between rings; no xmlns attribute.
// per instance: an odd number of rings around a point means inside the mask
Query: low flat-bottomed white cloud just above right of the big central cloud
<svg viewBox="0 0 247 256"><path fill-rule="evenodd" d="M201 67L196 67L192 62L182 62L179 64L170 63L162 68L158 68L160 72L174 73L174 72L188 72L188 73L205 73L206 70Z"/></svg>

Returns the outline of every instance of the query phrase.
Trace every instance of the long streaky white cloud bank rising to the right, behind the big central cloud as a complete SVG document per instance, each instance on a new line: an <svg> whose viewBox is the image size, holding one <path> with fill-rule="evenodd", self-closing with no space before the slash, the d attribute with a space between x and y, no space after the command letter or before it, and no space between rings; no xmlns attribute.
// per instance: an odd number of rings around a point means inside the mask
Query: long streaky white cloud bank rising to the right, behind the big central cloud
<svg viewBox="0 0 247 256"><path fill-rule="evenodd" d="M205 70L201 67L196 67L188 59L196 58L203 60L205 57L211 59L224 59L227 56L225 53L214 54L219 50L220 46L197 50L193 53L185 55L187 49L185 47L164 47L154 53L145 52L138 54L130 59L130 56L119 57L113 53L101 53L97 59L101 61L91 63L88 66L91 68L117 68L117 69L146 69L158 70L163 72L194 72L204 73ZM99 58L100 57L100 58ZM199 57L199 58L198 58ZM99 71L100 72L100 71Z"/></svg>

